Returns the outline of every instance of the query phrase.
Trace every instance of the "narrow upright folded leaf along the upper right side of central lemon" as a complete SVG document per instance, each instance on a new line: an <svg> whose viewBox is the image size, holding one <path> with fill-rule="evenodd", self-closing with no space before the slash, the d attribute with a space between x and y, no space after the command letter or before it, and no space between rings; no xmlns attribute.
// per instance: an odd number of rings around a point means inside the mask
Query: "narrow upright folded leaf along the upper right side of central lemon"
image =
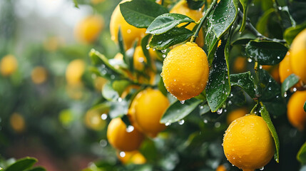
<svg viewBox="0 0 306 171"><path fill-rule="evenodd" d="M213 31L213 24L212 24L212 16L208 16L207 22L207 31L205 34L205 46L207 46L208 51L208 63L209 66L213 63L213 58L215 57L215 51L217 50L218 46L218 38L215 36L215 32Z"/></svg>

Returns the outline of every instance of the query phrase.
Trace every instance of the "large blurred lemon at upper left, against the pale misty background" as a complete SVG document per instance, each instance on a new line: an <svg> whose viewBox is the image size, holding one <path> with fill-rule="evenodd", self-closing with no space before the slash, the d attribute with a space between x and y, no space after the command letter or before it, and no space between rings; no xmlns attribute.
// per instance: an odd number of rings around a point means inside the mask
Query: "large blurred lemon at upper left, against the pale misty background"
<svg viewBox="0 0 306 171"><path fill-rule="evenodd" d="M76 25L74 34L83 43L93 43L98 38L103 27L104 20L102 16L87 16Z"/></svg>

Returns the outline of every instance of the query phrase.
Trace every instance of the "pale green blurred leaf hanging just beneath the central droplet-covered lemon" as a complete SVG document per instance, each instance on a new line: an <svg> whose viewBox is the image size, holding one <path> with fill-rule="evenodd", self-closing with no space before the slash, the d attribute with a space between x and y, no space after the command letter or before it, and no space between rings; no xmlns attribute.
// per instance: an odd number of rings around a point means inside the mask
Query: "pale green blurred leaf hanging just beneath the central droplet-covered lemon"
<svg viewBox="0 0 306 171"><path fill-rule="evenodd" d="M197 98L191 98L190 100L185 100L184 104L181 104L180 101L176 100L175 103L172 103L160 120L160 123L175 123L179 120L185 118L189 115L195 108L202 103L202 100Z"/></svg>

